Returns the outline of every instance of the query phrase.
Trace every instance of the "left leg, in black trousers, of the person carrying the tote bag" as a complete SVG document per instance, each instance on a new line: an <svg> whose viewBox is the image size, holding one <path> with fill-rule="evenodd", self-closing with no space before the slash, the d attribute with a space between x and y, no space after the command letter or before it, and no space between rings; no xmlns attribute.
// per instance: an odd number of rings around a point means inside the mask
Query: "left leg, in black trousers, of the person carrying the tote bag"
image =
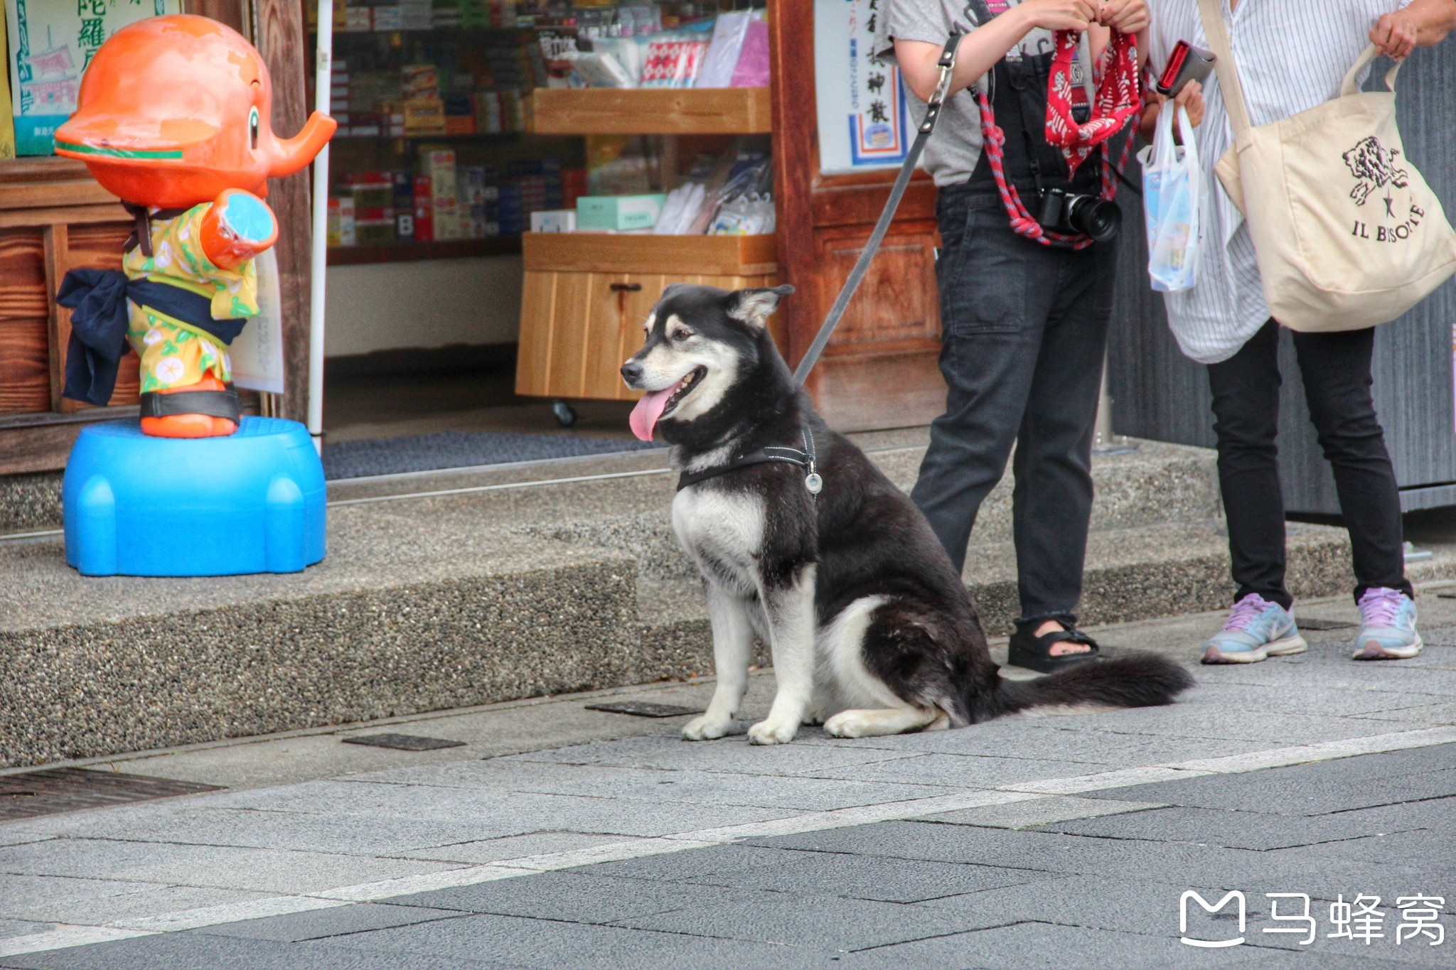
<svg viewBox="0 0 1456 970"><path fill-rule="evenodd" d="M1259 595L1289 609L1284 497L1278 483L1278 324L1270 320L1227 361L1208 365L1219 489L1229 525L1235 601Z"/></svg>

